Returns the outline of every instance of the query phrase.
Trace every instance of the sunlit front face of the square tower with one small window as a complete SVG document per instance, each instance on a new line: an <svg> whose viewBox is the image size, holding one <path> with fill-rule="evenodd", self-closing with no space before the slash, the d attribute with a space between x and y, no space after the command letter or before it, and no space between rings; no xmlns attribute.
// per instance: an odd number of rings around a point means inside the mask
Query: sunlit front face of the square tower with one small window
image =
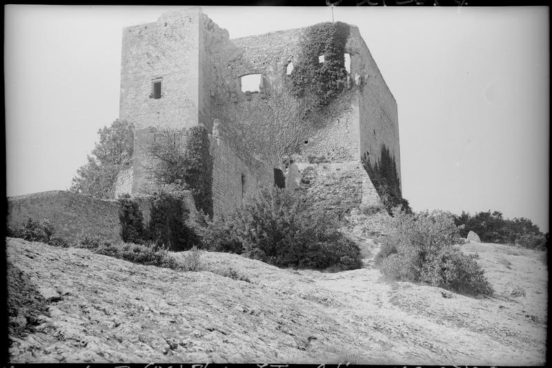
<svg viewBox="0 0 552 368"><path fill-rule="evenodd" d="M199 17L199 8L189 7L124 28L120 119L137 129L197 125ZM156 78L160 99L150 97Z"/></svg>

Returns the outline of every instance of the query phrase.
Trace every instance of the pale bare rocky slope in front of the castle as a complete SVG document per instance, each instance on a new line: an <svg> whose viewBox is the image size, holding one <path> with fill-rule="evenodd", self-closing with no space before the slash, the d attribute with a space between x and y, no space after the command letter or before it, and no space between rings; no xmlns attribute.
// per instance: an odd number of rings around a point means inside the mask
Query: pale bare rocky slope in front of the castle
<svg viewBox="0 0 552 368"><path fill-rule="evenodd" d="M390 282L365 267L279 269L202 252L175 272L7 239L12 362L326 362L544 365L548 271L539 252L469 244L493 298ZM175 254L182 257L182 254Z"/></svg>

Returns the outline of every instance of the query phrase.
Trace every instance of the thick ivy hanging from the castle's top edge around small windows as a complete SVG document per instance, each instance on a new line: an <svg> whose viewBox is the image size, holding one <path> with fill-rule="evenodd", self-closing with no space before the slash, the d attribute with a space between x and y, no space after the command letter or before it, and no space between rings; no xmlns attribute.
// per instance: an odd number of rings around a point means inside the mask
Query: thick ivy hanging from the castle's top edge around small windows
<svg viewBox="0 0 552 368"><path fill-rule="evenodd" d="M320 110L346 86L345 45L349 25L325 22L311 25L299 45L299 55L289 75L289 89L296 97L310 99L308 112ZM324 55L324 62L319 56Z"/></svg>

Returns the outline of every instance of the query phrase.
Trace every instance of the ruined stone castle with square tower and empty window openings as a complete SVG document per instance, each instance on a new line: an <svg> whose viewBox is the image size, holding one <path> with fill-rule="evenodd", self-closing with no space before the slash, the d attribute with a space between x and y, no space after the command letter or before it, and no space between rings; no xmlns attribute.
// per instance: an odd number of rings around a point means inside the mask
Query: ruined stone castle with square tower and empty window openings
<svg viewBox="0 0 552 368"><path fill-rule="evenodd" d="M186 145L186 131L203 125L215 214L237 207L259 185L275 185L282 173L288 187L319 197L328 210L381 203L362 160L377 162L386 147L400 178L397 103L359 29L346 27L346 76L318 110L286 90L301 72L310 28L230 39L195 7L125 28L119 119L134 123L135 146L117 194L148 191L144 163L156 134L183 132ZM323 65L331 55L308 57Z"/></svg>

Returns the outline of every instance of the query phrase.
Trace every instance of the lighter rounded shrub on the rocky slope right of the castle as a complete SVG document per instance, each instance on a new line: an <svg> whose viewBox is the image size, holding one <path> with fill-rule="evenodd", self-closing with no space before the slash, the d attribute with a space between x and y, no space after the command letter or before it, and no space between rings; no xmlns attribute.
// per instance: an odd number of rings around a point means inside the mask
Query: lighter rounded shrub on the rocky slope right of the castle
<svg viewBox="0 0 552 368"><path fill-rule="evenodd" d="M460 294L493 294L475 257L455 246L459 234L450 214L406 214L395 207L390 222L391 234L375 257L375 265L383 274Z"/></svg>

